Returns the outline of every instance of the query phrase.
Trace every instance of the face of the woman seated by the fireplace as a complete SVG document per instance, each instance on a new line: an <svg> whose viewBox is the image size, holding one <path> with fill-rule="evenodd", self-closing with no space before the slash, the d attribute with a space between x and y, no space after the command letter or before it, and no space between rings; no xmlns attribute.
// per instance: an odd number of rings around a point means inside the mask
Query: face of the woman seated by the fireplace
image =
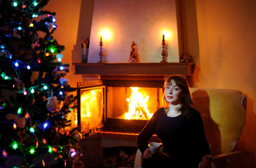
<svg viewBox="0 0 256 168"><path fill-rule="evenodd" d="M169 104L180 104L182 96L183 92L181 87L177 86L174 80L171 80L171 83L167 83L165 86L165 99L167 102L169 102Z"/></svg>

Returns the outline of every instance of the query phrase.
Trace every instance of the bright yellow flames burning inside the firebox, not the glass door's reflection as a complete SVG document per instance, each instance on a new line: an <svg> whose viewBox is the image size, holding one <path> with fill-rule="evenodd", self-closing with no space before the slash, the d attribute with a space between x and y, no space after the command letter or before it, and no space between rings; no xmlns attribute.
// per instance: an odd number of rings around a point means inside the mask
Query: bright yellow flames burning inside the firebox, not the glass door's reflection
<svg viewBox="0 0 256 168"><path fill-rule="evenodd" d="M149 120L153 113L148 111L149 96L146 93L139 92L139 87L130 87L132 94L126 101L129 103L129 110L125 113L125 119Z"/></svg>

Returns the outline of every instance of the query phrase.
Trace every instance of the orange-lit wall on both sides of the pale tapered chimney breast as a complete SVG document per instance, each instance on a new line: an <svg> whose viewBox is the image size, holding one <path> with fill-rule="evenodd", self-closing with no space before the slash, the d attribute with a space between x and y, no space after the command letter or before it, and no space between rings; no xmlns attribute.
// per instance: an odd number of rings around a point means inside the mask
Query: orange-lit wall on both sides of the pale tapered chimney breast
<svg viewBox="0 0 256 168"><path fill-rule="evenodd" d="M177 0L178 1L178 0ZM241 90L248 96L247 124L236 150L242 155L233 167L255 167L256 151L256 1L180 0L183 38L181 50L196 64L189 78L193 87ZM46 9L56 12L58 30L53 34L65 45L63 62L70 63L66 78L76 86L72 63L81 62L81 41L90 36L94 0L51 0Z"/></svg>

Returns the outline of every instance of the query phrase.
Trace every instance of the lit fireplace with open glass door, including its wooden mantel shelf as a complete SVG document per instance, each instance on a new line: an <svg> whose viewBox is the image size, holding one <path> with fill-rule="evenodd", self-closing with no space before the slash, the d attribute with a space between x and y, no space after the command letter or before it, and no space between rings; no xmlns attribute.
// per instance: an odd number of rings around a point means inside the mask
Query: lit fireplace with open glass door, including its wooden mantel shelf
<svg viewBox="0 0 256 168"><path fill-rule="evenodd" d="M191 66L191 63L76 64L76 73L98 75L98 80L77 83L80 131L85 135L102 130L139 133L162 106L165 78L177 71L190 75Z"/></svg>

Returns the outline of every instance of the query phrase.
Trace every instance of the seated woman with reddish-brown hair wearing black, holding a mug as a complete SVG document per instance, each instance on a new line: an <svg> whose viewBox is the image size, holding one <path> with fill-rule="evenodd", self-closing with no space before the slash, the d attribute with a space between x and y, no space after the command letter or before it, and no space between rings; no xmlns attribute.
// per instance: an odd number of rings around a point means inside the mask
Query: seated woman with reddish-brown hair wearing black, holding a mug
<svg viewBox="0 0 256 168"><path fill-rule="evenodd" d="M181 76L165 81L162 108L158 109L138 136L142 167L210 167L210 147L203 120L193 108L188 82ZM162 140L163 150L152 157L148 139Z"/></svg>

